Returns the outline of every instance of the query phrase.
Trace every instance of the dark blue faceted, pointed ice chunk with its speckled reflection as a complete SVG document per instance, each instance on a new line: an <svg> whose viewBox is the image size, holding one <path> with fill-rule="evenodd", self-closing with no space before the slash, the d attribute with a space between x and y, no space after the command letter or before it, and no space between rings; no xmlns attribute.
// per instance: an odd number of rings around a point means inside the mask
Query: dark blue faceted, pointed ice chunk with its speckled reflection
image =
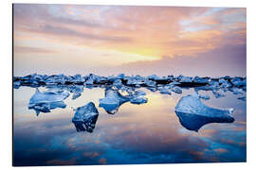
<svg viewBox="0 0 256 170"><path fill-rule="evenodd" d="M99 111L96 109L94 103L89 102L87 105L79 107L75 111L72 122L77 131L80 132L86 130L90 133L93 132L99 116Z"/></svg>

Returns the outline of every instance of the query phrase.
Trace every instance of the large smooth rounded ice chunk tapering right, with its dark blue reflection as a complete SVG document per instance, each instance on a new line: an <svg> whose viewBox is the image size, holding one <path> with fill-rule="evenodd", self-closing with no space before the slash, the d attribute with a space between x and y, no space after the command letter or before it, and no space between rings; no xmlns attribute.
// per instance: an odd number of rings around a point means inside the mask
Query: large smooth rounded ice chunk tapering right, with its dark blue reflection
<svg viewBox="0 0 256 170"><path fill-rule="evenodd" d="M183 127L198 131L210 123L232 123L231 113L234 109L214 109L201 102L197 94L181 97L175 107L176 115Z"/></svg>

